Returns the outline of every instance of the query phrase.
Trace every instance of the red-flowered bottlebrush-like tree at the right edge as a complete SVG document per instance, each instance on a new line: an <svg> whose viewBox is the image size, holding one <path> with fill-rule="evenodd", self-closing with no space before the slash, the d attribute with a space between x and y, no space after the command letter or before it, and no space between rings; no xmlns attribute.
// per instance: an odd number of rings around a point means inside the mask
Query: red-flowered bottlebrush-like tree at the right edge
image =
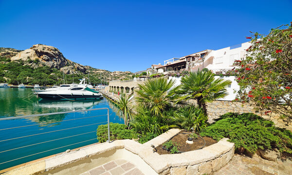
<svg viewBox="0 0 292 175"><path fill-rule="evenodd" d="M268 35L253 33L244 60L236 60L240 86L237 101L255 105L256 112L280 114L292 121L292 26Z"/></svg>

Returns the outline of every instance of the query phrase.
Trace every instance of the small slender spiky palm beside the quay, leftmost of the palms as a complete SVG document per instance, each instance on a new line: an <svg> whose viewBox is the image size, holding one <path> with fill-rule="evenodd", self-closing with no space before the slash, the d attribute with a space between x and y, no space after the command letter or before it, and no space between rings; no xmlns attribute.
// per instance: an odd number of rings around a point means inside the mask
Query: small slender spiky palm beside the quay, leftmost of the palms
<svg viewBox="0 0 292 175"><path fill-rule="evenodd" d="M129 97L121 95L116 105L118 105L119 107L118 112L122 111L124 114L125 125L129 126L130 118L132 116L132 108L131 108L131 102L129 101Z"/></svg>

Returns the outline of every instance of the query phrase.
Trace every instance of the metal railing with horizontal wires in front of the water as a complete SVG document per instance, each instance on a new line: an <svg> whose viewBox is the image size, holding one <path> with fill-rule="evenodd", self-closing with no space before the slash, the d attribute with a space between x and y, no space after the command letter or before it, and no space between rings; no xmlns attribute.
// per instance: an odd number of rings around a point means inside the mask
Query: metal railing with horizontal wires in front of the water
<svg viewBox="0 0 292 175"><path fill-rule="evenodd" d="M89 116L88 113L93 113L93 111L97 110L107 110L107 114L103 115L94 115ZM101 111L102 112L102 111ZM82 117L75 118L76 113L81 113ZM0 170L9 168L11 166L15 166L21 163L25 163L37 158L41 158L39 154L47 153L45 156L48 156L48 153L54 151L54 154L63 152L66 149L69 149L72 145L77 146L78 144L82 144L84 146L85 142L96 140L96 137L92 138L92 136L86 136L87 134L96 132L96 125L100 125L102 123L107 123L108 127L108 142L110 142L110 111L109 108L96 108L96 109L85 109L85 110L75 110L75 111L65 111L65 112L53 112L53 113L45 113L45 114L35 114L35 115L27 115L27 116L18 116L18 117L6 117L0 118L0 123L2 126L5 125L4 128L0 128ZM65 115L68 119L65 119ZM52 116L62 116L62 119L65 120L47 120L45 123L35 123L38 119L47 119L52 118ZM96 119L95 117L107 116L107 121L101 122L100 119ZM37 119L36 119L37 118ZM95 119L94 119L95 118ZM58 118L59 119L59 118ZM19 121L22 120L22 121ZM83 120L83 123L82 123ZM98 120L98 121L97 121ZM13 123L11 122L13 121ZM33 124L22 125L19 123L28 123L28 121L33 121ZM49 122L48 122L49 121ZM63 124L62 127L57 127L56 130L53 130L53 127L50 126L60 126L60 122L67 122L67 124ZM97 122L97 123L96 123ZM39 128L31 129L30 127L38 127L39 125L48 126L45 129ZM66 127L66 126L73 127ZM64 127L65 126L65 127ZM94 128L94 130L93 130ZM74 131L82 130L82 133L76 133ZM93 131L92 131L93 130ZM43 132L45 131L45 132ZM84 132L86 131L86 132ZM31 132L31 133L30 133ZM63 132L63 134L62 134ZM27 133L27 134L23 134ZM58 133L58 135L54 134ZM106 130L105 130L106 133ZM60 136L63 137L60 137ZM89 137L88 140L82 140L83 138ZM50 138L46 140L47 138ZM62 143L61 140L64 140L63 143L66 143L64 146L60 146ZM72 142L75 141L75 142ZM57 141L57 142L56 142ZM71 144L68 144L71 142ZM24 144L29 143L29 144ZM45 144L44 144L45 143ZM53 144L54 143L54 144ZM41 146L42 145L42 146ZM80 146L79 146L80 147ZM46 149L43 149L46 148ZM58 149L63 148L63 151L57 152ZM36 151L37 150L37 151ZM45 157L42 156L42 157Z"/></svg>

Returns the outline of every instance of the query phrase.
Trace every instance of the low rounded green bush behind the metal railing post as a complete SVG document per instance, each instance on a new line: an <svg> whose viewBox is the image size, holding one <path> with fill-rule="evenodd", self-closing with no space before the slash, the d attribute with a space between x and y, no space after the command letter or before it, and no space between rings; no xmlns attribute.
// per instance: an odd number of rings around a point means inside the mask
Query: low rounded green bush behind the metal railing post
<svg viewBox="0 0 292 175"><path fill-rule="evenodd" d="M137 138L133 130L127 129L127 125L110 123L110 140ZM105 142L108 140L108 124L99 125L97 128L97 140Z"/></svg>

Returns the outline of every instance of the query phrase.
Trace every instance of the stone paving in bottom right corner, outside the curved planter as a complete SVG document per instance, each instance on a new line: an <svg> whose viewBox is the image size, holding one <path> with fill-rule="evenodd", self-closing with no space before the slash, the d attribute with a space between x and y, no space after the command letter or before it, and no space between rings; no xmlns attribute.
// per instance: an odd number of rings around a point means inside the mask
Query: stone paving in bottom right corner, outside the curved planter
<svg viewBox="0 0 292 175"><path fill-rule="evenodd" d="M291 160L270 161L258 157L234 157L214 175L292 175Z"/></svg>

